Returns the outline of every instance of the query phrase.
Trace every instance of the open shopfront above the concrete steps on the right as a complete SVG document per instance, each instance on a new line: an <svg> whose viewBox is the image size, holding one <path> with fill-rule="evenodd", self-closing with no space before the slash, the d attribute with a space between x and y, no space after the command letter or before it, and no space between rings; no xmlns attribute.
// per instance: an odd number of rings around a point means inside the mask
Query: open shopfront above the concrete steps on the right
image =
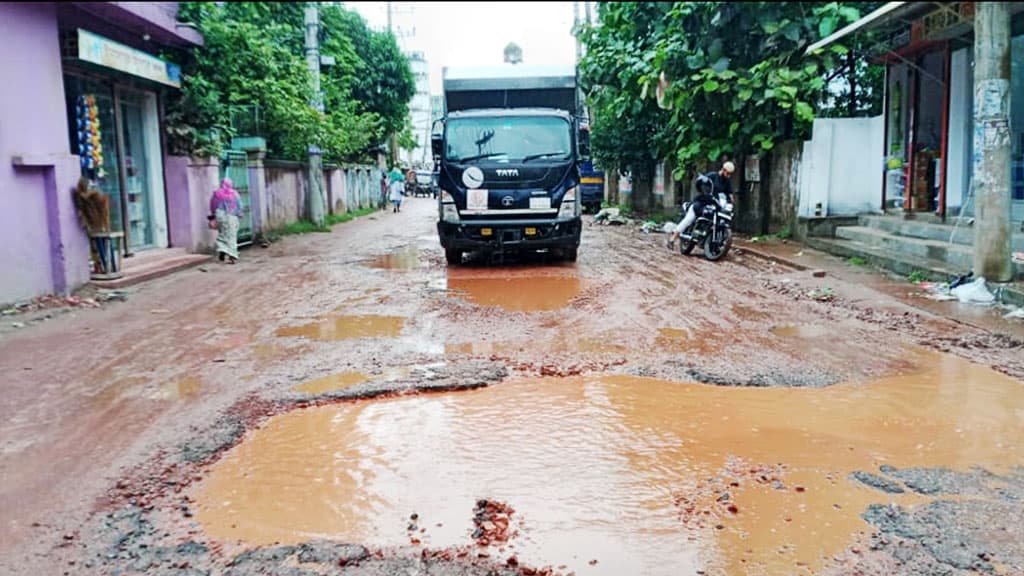
<svg viewBox="0 0 1024 576"><path fill-rule="evenodd" d="M973 217L974 3L954 2L881 25L886 66L883 208ZM1011 219L1024 221L1024 13L1014 14L1011 53ZM1017 228L1015 225L1015 228Z"/></svg>

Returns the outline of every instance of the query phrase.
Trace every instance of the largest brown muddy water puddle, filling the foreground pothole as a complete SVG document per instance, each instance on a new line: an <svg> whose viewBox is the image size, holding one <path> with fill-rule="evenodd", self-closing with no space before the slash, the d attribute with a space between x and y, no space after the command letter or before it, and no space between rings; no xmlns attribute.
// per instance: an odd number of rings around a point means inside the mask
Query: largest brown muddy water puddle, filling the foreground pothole
<svg viewBox="0 0 1024 576"><path fill-rule="evenodd" d="M441 548L472 544L488 498L518 531L492 558L580 576L816 572L870 530L868 504L925 500L850 472L1024 463L1022 382L912 354L906 374L828 388L605 375L296 410L212 467L197 518L228 546L403 547L415 512ZM755 480L766 467L779 482Z"/></svg>

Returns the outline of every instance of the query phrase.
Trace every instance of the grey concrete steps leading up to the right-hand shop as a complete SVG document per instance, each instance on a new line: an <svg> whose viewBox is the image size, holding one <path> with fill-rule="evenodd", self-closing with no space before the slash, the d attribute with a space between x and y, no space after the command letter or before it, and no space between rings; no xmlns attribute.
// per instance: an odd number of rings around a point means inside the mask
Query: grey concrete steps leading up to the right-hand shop
<svg viewBox="0 0 1024 576"><path fill-rule="evenodd" d="M952 242L950 242L950 239ZM899 216L863 215L857 225L841 225L835 238L808 237L806 244L843 257L907 276L919 273L948 281L971 272L974 265L974 229L967 222L954 227ZM1013 252L1024 252L1024 233L1013 236ZM1024 262L1014 263L1016 282L1002 290L1000 299L1024 305Z"/></svg>

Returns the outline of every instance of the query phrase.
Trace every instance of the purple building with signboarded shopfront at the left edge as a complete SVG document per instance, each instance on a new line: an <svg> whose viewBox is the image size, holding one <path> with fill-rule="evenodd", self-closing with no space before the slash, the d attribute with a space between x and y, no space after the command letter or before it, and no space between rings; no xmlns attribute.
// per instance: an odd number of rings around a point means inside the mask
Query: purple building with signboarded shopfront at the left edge
<svg viewBox="0 0 1024 576"><path fill-rule="evenodd" d="M0 3L0 302L89 280L72 191L110 205L125 255L167 248L163 107L180 71L158 54L202 45L177 2Z"/></svg>

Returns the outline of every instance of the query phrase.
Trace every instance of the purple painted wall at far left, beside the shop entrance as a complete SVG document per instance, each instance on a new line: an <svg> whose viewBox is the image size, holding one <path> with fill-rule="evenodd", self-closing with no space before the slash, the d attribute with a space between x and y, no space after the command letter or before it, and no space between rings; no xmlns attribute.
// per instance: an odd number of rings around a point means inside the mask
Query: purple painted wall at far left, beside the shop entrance
<svg viewBox="0 0 1024 576"><path fill-rule="evenodd" d="M0 302L88 280L58 48L53 3L0 3Z"/></svg>

